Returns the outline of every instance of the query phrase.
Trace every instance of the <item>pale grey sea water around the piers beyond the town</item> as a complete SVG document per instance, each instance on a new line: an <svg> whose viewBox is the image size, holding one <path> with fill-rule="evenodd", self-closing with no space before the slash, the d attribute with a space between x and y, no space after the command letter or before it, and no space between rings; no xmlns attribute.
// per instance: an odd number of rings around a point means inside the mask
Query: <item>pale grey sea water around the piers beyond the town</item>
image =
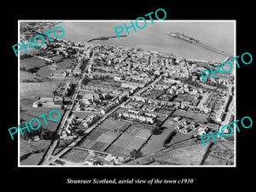
<svg viewBox="0 0 256 192"><path fill-rule="evenodd" d="M65 29L63 39L70 41L84 41L89 38L116 36L114 27L131 25L131 20L98 21L90 20L84 22L64 21L58 26ZM235 55L235 23L233 21L206 21L206 20L154 20L154 24L147 20L147 26L135 32L131 27L130 34L122 38L109 38L108 40L97 40L100 44L115 44L132 48L159 51L163 54L173 54L188 59L201 59L207 61L223 61L225 55L220 55L209 49L204 49L195 44L189 44L181 39L172 38L168 32L181 32L191 38L198 39L201 43L208 44L213 48L223 50L230 55Z"/></svg>

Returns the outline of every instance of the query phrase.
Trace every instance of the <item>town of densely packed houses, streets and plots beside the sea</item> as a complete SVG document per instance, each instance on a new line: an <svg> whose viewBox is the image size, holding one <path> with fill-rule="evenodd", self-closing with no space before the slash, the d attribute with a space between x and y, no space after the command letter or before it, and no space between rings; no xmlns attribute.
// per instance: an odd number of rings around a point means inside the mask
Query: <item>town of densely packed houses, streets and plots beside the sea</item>
<svg viewBox="0 0 256 192"><path fill-rule="evenodd" d="M20 40L52 25L21 26ZM61 111L55 137L38 165L234 164L234 133L215 138L216 143L206 141L207 147L201 142L202 135L217 133L235 120L234 75L208 76L206 82L201 77L202 70L221 62L93 41L51 40L35 47L33 55L20 55L20 72L30 77L21 75L20 84L57 84L50 94L35 96L30 107ZM49 73L22 66L32 59L44 61ZM26 137L26 143L42 140L39 132Z"/></svg>

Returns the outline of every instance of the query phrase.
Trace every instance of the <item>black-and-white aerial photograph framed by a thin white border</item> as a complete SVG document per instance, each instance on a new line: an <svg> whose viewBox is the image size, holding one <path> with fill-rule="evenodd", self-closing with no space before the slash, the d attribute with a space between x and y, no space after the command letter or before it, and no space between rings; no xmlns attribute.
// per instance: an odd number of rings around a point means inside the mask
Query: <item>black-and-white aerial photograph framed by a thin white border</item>
<svg viewBox="0 0 256 192"><path fill-rule="evenodd" d="M147 21L19 20L19 166L236 166L236 21Z"/></svg>

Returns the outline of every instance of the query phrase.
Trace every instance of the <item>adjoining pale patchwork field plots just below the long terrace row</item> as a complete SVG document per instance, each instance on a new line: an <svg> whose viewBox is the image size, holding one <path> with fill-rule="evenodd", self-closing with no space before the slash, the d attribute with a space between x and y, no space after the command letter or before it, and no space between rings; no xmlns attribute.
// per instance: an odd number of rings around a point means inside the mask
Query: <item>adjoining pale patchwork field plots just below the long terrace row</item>
<svg viewBox="0 0 256 192"><path fill-rule="evenodd" d="M149 129L144 125L130 126L124 121L106 119L79 143L79 147L130 156L131 150L141 148L150 136Z"/></svg>

